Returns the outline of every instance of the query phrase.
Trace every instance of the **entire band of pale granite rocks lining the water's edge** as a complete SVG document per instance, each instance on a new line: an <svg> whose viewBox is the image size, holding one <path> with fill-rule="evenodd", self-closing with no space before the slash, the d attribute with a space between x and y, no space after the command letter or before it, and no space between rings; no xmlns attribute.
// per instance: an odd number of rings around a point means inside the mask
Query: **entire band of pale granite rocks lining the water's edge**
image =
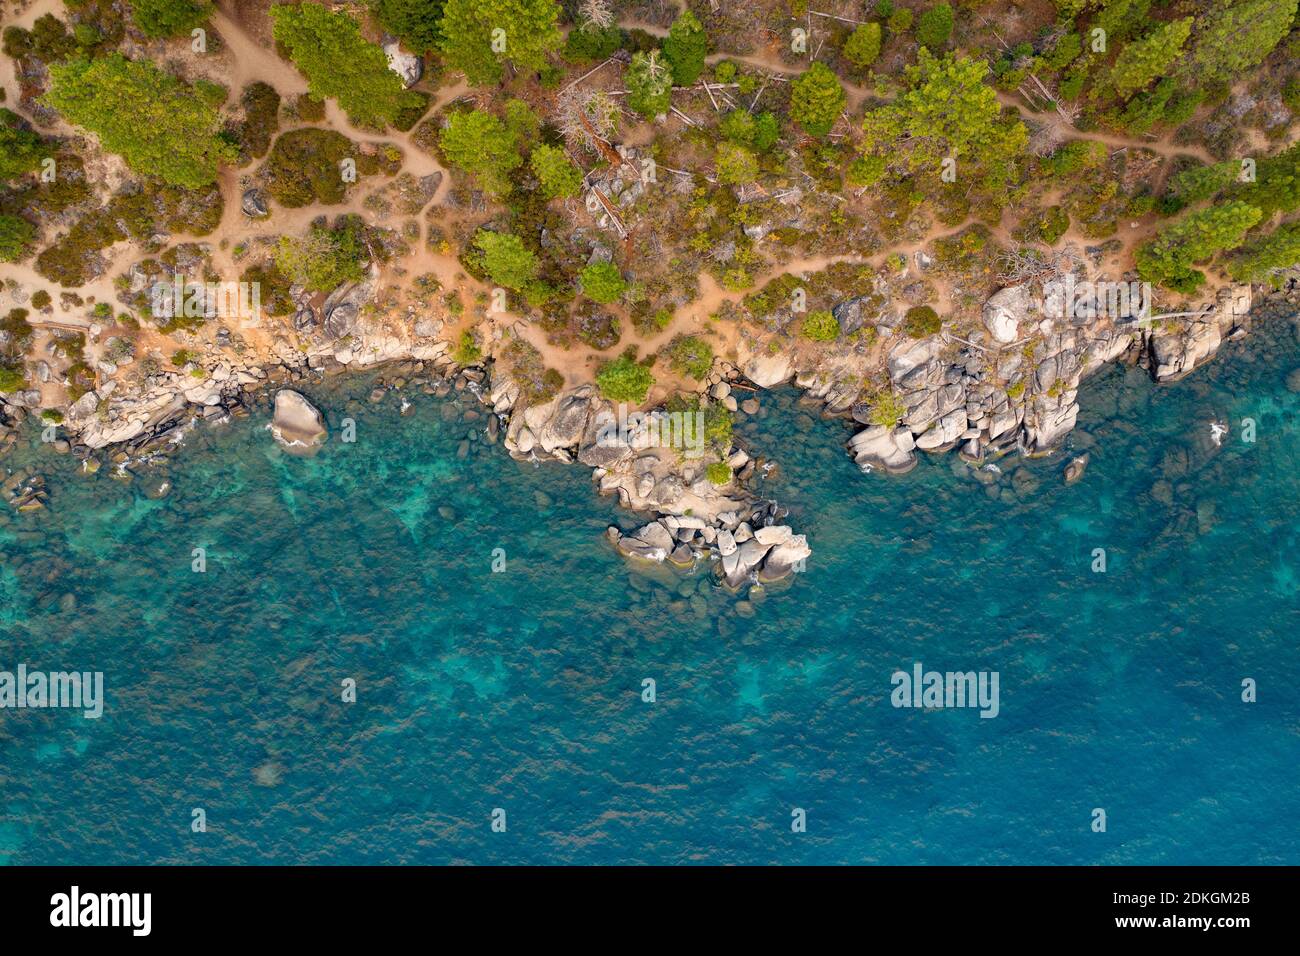
<svg viewBox="0 0 1300 956"><path fill-rule="evenodd" d="M367 294L344 290L330 299L337 307L363 302ZM1288 289L1261 302L1295 307L1297 299L1297 290ZM852 307L852 300L841 304ZM793 382L826 415L862 425L848 451L864 472L904 473L915 467L918 451L956 449L976 466L1010 453L1044 455L1075 427L1078 389L1088 376L1108 363L1124 362L1147 368L1156 382L1176 381L1210 359L1223 341L1245 334L1251 307L1249 287L1230 286L1176 325L1139 326L1102 315L1061 321L1039 313L1023 291L1004 289L988 300L985 328L970 339L940 333L900 338L889 349L889 381L906 410L893 427L872 424L871 407L858 401L857 388L844 388L822 367L801 367L784 351L742 347L738 362L716 360L698 401L699 407L716 402L734 410L736 389ZM592 468L599 493L651 515L630 533L612 525L607 531L611 545L629 561L682 568L715 563L718 578L734 589L784 579L803 570L812 554L806 538L783 523L785 511L750 489L759 463L745 449L725 450L733 477L714 484L699 460L647 444L637 429L612 438L606 434L602 424L619 410L592 385L528 405L514 380L493 376L490 359L462 367L447 342L412 341L368 328L358 315L341 346L324 332L325 325L318 347L308 351L285 347L261 362L237 362L229 351L214 355L211 365L199 365L202 381L178 372L129 392L110 378L69 407L62 434L47 425L46 437L53 434L55 449L74 455L86 472L109 467L112 475L130 479L165 460L199 423L269 411L273 402L273 437L290 451L309 453L328 433L320 412L294 386L382 367L393 388L420 388L437 397L473 395L488 412L486 442L500 440L517 460L584 464ZM1032 347L1022 341L1030 334ZM1010 394L996 384L1026 364L1032 371L1024 394ZM377 392L382 398L385 392ZM0 449L13 446L17 428L34 411L25 398L0 398ZM372 401L377 401L374 394ZM1078 480L1086 463L1086 457L1071 462L1065 477ZM151 483L147 493L165 494L166 483ZM39 511L48 503L39 473L8 473L4 496L18 511Z"/></svg>

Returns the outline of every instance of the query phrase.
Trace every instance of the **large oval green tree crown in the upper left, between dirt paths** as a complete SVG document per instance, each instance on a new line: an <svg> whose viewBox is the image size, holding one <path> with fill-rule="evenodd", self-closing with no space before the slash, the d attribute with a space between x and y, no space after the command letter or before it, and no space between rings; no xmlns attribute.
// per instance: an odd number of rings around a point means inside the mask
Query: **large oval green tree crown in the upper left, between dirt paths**
<svg viewBox="0 0 1300 956"><path fill-rule="evenodd" d="M46 103L95 133L142 176L190 189L217 178L237 160L221 118L194 87L146 60L120 53L49 68Z"/></svg>

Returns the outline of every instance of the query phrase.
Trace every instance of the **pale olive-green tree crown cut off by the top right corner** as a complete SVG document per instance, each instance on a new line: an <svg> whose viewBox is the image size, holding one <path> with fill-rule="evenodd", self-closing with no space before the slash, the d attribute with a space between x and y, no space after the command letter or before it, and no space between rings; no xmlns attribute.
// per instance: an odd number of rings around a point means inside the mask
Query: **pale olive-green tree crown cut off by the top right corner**
<svg viewBox="0 0 1300 956"><path fill-rule="evenodd" d="M1296 0L1219 0L1197 25L1188 75L1231 82L1264 62L1296 17Z"/></svg>

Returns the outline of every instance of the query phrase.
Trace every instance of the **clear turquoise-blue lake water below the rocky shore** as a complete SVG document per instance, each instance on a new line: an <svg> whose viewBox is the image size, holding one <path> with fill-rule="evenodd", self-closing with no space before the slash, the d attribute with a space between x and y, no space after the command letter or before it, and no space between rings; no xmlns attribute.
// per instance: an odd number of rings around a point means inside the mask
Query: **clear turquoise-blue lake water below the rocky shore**
<svg viewBox="0 0 1300 956"><path fill-rule="evenodd" d="M1093 380L1069 488L863 476L766 395L740 432L815 553L754 602L629 572L586 470L458 458L482 420L420 394L304 389L315 459L203 429L162 501L25 450L52 509L0 518L0 669L101 670L107 706L0 710L0 862L1297 864L1296 351ZM915 661L998 671L1000 715L894 709Z"/></svg>

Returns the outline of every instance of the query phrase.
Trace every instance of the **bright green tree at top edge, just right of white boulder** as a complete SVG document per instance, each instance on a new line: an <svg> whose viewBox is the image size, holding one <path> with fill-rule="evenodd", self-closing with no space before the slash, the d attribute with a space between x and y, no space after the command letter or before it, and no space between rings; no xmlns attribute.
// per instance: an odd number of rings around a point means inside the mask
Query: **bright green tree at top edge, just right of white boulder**
<svg viewBox="0 0 1300 956"><path fill-rule="evenodd" d="M506 62L540 70L563 42L559 10L555 0L446 0L442 53L473 86L498 82ZM499 53L493 49L494 30L504 31L506 49Z"/></svg>

